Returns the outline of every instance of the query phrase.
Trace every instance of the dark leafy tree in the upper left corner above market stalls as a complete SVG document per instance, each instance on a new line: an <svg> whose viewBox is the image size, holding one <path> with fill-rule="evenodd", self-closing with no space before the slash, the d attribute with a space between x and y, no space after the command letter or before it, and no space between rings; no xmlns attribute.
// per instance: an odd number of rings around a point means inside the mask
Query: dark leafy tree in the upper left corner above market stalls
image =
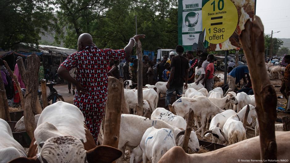
<svg viewBox="0 0 290 163"><path fill-rule="evenodd" d="M39 44L39 34L56 30L52 0L0 1L0 48L14 49L18 43Z"/></svg>

